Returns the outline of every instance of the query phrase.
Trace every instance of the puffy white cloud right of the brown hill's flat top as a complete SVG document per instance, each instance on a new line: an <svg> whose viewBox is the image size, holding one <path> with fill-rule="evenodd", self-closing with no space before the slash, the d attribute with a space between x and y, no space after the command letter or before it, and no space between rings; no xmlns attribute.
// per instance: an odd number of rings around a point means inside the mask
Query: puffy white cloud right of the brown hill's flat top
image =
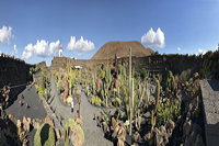
<svg viewBox="0 0 219 146"><path fill-rule="evenodd" d="M141 36L141 43L149 47L160 47L165 46L164 33L159 27L157 32L151 27L143 36Z"/></svg>

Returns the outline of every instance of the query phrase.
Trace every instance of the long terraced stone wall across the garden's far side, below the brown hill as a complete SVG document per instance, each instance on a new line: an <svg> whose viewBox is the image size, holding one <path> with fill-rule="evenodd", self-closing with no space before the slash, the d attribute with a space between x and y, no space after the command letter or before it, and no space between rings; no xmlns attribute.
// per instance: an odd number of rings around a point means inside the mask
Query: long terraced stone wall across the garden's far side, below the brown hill
<svg viewBox="0 0 219 146"><path fill-rule="evenodd" d="M123 65L128 65L128 57L117 58L117 61ZM106 64L106 59L71 59L67 57L55 57L51 61L50 70L58 70L58 68L65 68L67 61L70 61L73 66L82 66L92 68L96 65ZM114 59L110 59L108 63L114 63ZM132 67L136 71L142 68L159 74L166 70L172 70L174 75L180 75L183 70L191 69L192 72L199 71L201 66L201 58L198 56L188 55L153 55L146 57L132 56Z"/></svg>

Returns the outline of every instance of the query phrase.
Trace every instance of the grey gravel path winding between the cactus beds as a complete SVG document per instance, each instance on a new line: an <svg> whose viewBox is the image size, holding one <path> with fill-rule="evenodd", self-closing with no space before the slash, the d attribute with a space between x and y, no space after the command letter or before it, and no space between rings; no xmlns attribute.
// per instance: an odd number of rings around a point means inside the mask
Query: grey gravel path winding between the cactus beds
<svg viewBox="0 0 219 146"><path fill-rule="evenodd" d="M80 87L81 88L81 87ZM65 121L69 117L76 116L76 111L79 109L78 104L74 106L74 113L70 112L70 106L62 104L60 98L58 98L54 77L51 76L51 97L50 103L53 110L59 113ZM84 146L113 146L111 141L104 138L103 131L96 126L96 122L93 120L94 114L100 114L102 109L91 105L87 99L84 92L81 94L81 115L83 119L83 130L85 135Z"/></svg>

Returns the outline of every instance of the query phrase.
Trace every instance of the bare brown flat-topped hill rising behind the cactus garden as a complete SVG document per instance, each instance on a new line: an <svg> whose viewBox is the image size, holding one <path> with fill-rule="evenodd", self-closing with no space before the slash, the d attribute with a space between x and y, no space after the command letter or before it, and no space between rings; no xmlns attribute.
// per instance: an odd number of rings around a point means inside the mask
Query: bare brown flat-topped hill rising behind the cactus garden
<svg viewBox="0 0 219 146"><path fill-rule="evenodd" d="M129 55L129 48L131 47L132 56L142 57L149 56L154 52L151 48L145 48L140 42L108 42L104 44L91 59L108 59L117 57L127 57Z"/></svg>

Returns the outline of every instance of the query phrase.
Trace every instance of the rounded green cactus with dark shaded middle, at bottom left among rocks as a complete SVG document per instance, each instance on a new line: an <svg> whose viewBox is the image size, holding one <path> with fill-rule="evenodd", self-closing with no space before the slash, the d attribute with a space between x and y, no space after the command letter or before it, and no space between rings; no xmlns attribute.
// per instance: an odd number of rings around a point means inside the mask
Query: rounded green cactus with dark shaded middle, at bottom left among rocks
<svg viewBox="0 0 219 146"><path fill-rule="evenodd" d="M56 137L54 128L48 124L44 123L36 131L34 136L34 146L55 146Z"/></svg>

